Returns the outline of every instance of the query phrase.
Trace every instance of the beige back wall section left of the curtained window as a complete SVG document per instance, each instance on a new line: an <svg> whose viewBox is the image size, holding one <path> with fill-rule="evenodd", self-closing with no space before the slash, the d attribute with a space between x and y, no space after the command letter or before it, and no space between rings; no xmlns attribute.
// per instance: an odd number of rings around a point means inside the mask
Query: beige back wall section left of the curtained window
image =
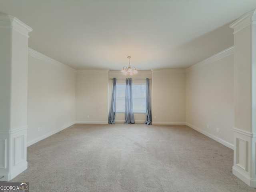
<svg viewBox="0 0 256 192"><path fill-rule="evenodd" d="M76 74L76 123L108 123L108 70Z"/></svg>

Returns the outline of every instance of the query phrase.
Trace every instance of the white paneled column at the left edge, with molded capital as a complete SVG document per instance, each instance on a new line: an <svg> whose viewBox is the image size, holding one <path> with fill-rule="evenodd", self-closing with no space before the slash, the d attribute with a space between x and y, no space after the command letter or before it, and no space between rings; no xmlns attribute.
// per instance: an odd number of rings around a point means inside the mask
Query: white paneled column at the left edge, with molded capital
<svg viewBox="0 0 256 192"><path fill-rule="evenodd" d="M0 14L0 181L9 181L28 167L28 33L31 31L17 18Z"/></svg>

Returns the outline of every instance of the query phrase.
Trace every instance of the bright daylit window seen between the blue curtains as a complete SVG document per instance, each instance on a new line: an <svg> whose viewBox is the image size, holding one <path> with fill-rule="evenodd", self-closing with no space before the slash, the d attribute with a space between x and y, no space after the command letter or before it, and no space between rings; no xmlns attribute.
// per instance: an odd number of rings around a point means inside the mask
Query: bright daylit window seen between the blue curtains
<svg viewBox="0 0 256 192"><path fill-rule="evenodd" d="M132 102L134 113L146 112L146 82L132 82ZM124 113L125 83L116 83L116 112Z"/></svg>

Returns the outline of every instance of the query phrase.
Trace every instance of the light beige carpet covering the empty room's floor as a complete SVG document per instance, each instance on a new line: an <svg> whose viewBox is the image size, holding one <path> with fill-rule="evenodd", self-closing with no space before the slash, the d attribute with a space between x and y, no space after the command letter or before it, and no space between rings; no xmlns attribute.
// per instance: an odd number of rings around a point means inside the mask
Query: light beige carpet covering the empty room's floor
<svg viewBox="0 0 256 192"><path fill-rule="evenodd" d="M256 192L233 150L183 125L75 124L28 147L30 192Z"/></svg>

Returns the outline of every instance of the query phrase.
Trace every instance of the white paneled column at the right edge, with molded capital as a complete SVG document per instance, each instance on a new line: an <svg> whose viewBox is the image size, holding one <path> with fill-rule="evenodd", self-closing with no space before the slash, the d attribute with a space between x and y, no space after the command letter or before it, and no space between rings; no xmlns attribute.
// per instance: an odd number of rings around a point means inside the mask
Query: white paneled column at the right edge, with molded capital
<svg viewBox="0 0 256 192"><path fill-rule="evenodd" d="M230 25L234 29L233 174L256 187L256 10Z"/></svg>

